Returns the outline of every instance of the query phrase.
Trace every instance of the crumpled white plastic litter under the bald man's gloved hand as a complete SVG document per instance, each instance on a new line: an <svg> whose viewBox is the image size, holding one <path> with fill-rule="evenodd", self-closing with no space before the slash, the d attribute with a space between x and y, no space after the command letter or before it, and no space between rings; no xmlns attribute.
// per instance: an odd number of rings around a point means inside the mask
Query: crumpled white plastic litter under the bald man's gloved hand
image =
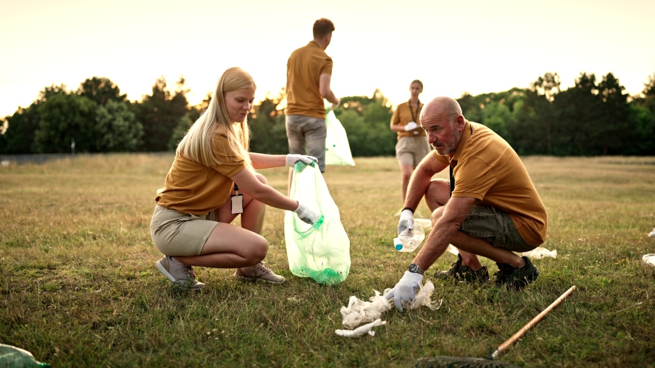
<svg viewBox="0 0 655 368"><path fill-rule="evenodd" d="M371 330L371 328L379 325L379 324L374 324L371 322L375 322L376 320L381 320L381 316L383 312L386 312L387 310L390 310L394 306L394 301L393 300L386 300L384 298L384 295L388 293L391 289L384 289L384 293L380 293L377 290L373 290L375 292L375 296L369 298L370 301L365 302L359 299L358 297L352 295L350 299L348 299L348 306L342 306L341 307L341 315L343 316L343 325L348 329L352 331L358 331L357 333L346 333L348 335L354 334L354 336L348 336L348 337L357 337L364 335L368 331ZM420 308L421 306L426 306L432 310L437 310L441 306L441 302L443 302L443 299L438 301L438 303L434 303L432 301L432 293L434 292L434 284L430 280L426 281L424 285L421 286L419 291L416 293L416 298L414 301L411 303L403 303L403 308L407 309L416 309ZM362 323L368 323L365 326L360 326L360 328L355 328ZM386 321L381 321L381 324L385 324ZM364 328L361 328L364 327ZM354 330L353 330L354 329ZM348 330L335 330L335 333L340 336L346 336L344 335L343 331L348 331ZM372 334L371 334L372 335Z"/></svg>

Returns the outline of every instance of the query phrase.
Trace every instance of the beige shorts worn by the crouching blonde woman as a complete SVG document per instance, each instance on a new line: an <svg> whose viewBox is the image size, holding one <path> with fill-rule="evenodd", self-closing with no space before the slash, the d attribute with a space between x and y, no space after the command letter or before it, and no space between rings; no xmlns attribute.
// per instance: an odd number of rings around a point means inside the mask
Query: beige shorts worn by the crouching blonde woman
<svg viewBox="0 0 655 368"><path fill-rule="evenodd" d="M169 210L157 204L150 222L150 235L155 247L165 255L200 255L216 225L216 211L196 216Z"/></svg>

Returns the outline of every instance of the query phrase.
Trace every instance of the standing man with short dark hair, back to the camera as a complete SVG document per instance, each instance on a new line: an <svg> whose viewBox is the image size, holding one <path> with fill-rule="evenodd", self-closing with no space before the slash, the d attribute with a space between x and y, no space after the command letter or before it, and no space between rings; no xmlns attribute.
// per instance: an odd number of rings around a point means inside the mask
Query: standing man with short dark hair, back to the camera
<svg viewBox="0 0 655 368"><path fill-rule="evenodd" d="M324 99L339 105L330 89L332 59L325 50L332 39L334 24L320 18L314 22L314 39L291 53L287 62L286 132L289 153L314 156L318 168L326 167L326 109ZM293 168L289 173L289 187Z"/></svg>

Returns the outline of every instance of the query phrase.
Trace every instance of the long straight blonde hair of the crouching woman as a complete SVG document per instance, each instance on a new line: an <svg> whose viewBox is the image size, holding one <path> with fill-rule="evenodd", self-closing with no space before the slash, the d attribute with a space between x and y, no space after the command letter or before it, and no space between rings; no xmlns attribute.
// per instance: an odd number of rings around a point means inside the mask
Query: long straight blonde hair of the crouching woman
<svg viewBox="0 0 655 368"><path fill-rule="evenodd" d="M205 166L216 166L219 162L214 154L214 134L221 130L227 134L227 145L234 153L234 160L244 160L250 165L248 156L248 141L250 141L250 130L248 119L241 123L241 137L233 129L233 121L230 120L225 108L225 93L244 88L257 88L250 74L240 67L231 67L223 72L218 79L214 97L207 107L207 111L200 115L184 138L179 142L177 155L185 156ZM233 160L231 160L233 161Z"/></svg>

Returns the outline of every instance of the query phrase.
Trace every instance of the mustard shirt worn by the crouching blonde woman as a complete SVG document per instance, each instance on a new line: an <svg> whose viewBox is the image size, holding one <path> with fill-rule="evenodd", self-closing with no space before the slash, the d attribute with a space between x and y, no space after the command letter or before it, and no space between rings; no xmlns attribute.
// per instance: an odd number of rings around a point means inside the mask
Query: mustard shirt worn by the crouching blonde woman
<svg viewBox="0 0 655 368"><path fill-rule="evenodd" d="M241 172L246 163L227 146L225 130L217 131L213 139L214 153L221 164L209 167L176 155L164 188L155 197L157 204L182 213L204 215L225 203L234 185L230 177Z"/></svg>

